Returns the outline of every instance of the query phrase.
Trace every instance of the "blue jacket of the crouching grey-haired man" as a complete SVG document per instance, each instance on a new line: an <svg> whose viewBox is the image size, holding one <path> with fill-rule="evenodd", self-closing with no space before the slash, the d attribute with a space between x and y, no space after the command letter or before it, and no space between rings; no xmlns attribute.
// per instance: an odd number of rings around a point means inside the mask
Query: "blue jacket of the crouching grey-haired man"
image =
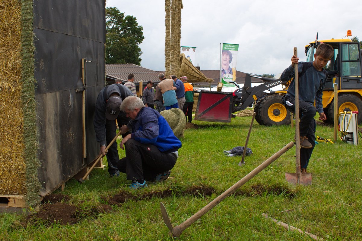
<svg viewBox="0 0 362 241"><path fill-rule="evenodd" d="M127 127L132 128L131 139L155 145L160 152L171 153L181 148L181 141L173 134L166 119L150 107L142 108Z"/></svg>

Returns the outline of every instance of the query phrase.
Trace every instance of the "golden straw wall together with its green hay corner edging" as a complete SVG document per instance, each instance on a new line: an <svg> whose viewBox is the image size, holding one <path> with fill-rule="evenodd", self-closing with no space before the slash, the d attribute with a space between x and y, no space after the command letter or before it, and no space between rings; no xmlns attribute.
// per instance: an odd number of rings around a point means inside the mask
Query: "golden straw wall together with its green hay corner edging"
<svg viewBox="0 0 362 241"><path fill-rule="evenodd" d="M39 200L33 1L0 2L0 194Z"/></svg>

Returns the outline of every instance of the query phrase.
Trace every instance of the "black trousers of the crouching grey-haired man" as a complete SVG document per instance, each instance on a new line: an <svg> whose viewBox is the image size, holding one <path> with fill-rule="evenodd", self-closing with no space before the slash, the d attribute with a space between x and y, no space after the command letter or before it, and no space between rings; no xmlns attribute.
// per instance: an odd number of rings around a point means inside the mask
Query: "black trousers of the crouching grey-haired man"
<svg viewBox="0 0 362 241"><path fill-rule="evenodd" d="M127 174L127 180L154 181L160 172L171 170L177 160L173 153L160 152L157 146L134 139L129 139L125 148L126 157L119 160L117 167Z"/></svg>

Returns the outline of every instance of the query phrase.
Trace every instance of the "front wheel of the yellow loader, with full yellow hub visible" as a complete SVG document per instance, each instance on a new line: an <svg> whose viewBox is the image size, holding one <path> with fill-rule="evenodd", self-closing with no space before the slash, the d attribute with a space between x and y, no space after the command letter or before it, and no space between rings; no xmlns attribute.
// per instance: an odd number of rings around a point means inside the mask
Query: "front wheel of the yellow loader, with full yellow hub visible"
<svg viewBox="0 0 362 241"><path fill-rule="evenodd" d="M265 126L290 124L290 111L282 104L281 95L269 95L261 100L258 114L258 123Z"/></svg>

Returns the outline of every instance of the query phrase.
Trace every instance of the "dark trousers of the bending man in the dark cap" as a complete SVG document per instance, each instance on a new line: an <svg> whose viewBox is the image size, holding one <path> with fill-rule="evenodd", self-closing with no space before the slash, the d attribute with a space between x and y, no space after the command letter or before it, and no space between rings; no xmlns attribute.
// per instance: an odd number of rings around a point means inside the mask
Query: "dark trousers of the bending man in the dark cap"
<svg viewBox="0 0 362 241"><path fill-rule="evenodd" d="M129 121L130 121L130 118L126 117L126 113L124 113L123 111L119 112L119 115L117 117L118 127L128 124ZM106 119L107 146L109 145L109 143L111 143L113 138L117 135L116 131L117 131L117 126L115 124L115 120L109 121ZM125 137L130 133L131 133L130 131L126 132L126 133L122 134L122 137ZM118 155L118 150L117 150L117 141L115 141L110 146L106 156L107 156L109 174L119 174L119 171L117 169L117 162L119 161L119 155Z"/></svg>

